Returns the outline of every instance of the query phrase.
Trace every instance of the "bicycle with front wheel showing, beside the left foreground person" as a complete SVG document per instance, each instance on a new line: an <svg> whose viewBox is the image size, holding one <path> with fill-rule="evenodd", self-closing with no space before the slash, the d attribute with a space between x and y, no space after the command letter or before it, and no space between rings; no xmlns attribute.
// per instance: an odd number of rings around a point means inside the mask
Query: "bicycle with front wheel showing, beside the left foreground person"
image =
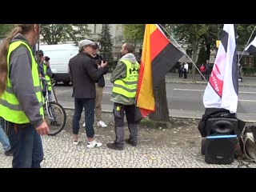
<svg viewBox="0 0 256 192"><path fill-rule="evenodd" d="M43 81L49 82L46 80L46 78L41 78ZM48 94L48 87L49 85L46 84L46 96L45 96L45 103L43 105L45 112L45 119L47 122L47 125L49 126L50 129L50 136L54 136L58 133L60 133L63 129L64 126L66 125L66 111L60 105L58 102L50 101L49 94ZM55 83L54 83L55 84ZM52 90L54 92L54 84L50 84L52 87ZM56 99L56 94L54 92L54 98Z"/></svg>

